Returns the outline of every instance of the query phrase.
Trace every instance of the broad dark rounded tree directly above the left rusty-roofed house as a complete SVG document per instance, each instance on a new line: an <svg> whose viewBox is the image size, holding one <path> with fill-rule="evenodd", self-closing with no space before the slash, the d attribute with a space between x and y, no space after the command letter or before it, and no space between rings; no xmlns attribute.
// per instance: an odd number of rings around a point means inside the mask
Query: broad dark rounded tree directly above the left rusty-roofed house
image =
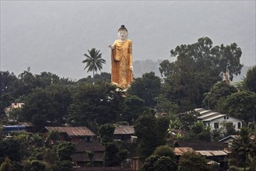
<svg viewBox="0 0 256 171"><path fill-rule="evenodd" d="M71 95L66 87L34 89L24 100L25 106L19 120L32 122L40 131L47 121L62 123L70 102Z"/></svg>

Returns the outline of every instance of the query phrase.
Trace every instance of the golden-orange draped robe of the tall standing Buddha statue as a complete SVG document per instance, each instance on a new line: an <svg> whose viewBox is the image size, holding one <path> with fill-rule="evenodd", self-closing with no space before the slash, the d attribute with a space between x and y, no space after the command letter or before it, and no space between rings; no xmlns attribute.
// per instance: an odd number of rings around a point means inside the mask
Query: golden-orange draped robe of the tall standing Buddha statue
<svg viewBox="0 0 256 171"><path fill-rule="evenodd" d="M111 50L111 83L123 89L128 89L132 83L132 40L114 41Z"/></svg>

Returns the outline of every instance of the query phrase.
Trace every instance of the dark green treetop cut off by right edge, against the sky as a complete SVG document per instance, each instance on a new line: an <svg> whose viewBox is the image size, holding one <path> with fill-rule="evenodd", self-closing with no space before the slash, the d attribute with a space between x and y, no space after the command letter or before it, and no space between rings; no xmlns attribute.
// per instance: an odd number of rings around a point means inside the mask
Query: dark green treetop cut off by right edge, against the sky
<svg viewBox="0 0 256 171"><path fill-rule="evenodd" d="M256 92L256 66L250 68L247 71L246 77L244 78L244 87L248 91Z"/></svg>

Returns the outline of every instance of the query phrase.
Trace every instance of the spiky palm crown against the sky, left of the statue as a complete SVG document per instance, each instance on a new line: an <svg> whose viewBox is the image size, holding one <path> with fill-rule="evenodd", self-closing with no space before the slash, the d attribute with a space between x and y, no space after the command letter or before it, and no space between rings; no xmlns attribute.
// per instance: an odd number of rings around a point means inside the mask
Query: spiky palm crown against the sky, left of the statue
<svg viewBox="0 0 256 171"><path fill-rule="evenodd" d="M102 69L102 65L106 64L106 61L101 57L100 50L96 50L96 48L92 48L91 51L87 50L89 54L84 54L86 56L86 59L82 61L82 63L86 63L86 68L88 68L87 72L93 71L93 77L94 72L97 72L97 70Z"/></svg>

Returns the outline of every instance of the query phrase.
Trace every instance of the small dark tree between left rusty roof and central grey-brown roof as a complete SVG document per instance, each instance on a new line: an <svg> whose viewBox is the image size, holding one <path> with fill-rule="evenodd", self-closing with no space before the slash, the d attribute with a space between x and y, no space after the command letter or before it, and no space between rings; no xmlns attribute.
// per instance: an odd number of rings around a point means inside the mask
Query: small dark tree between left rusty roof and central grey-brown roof
<svg viewBox="0 0 256 171"><path fill-rule="evenodd" d="M99 135L101 143L105 144L114 141L114 125L113 124L103 124L99 127Z"/></svg>

